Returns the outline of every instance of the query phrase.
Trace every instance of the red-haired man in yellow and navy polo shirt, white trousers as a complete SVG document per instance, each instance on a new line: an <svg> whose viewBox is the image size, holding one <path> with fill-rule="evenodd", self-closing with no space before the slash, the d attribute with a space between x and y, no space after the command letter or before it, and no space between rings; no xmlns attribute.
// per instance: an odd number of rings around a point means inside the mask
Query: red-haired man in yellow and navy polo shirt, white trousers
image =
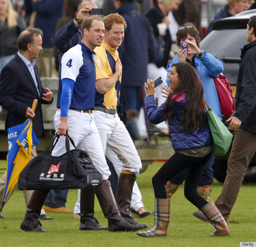
<svg viewBox="0 0 256 247"><path fill-rule="evenodd" d="M121 215L130 224L140 224L146 228L146 224L134 221L130 213L132 189L136 175L138 175L142 167L141 159L124 123L120 120L116 111L120 104L120 84L122 78L122 64L117 48L124 40L126 22L117 13L104 17L103 22L105 25L104 41L101 47L95 49L97 55L94 57L97 90L93 111L95 113L95 123L102 140L103 150L119 175L116 202ZM136 188L137 184L135 185ZM134 198L141 201L139 189L137 188L136 191L138 192L133 193Z"/></svg>

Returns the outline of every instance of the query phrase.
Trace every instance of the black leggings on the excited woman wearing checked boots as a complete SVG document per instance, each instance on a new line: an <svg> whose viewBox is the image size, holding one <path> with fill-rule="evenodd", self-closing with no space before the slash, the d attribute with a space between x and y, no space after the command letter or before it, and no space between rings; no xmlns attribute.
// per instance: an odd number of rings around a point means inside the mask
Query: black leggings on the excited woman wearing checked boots
<svg viewBox="0 0 256 247"><path fill-rule="evenodd" d="M186 169L184 185L185 198L198 208L207 204L207 201L197 193L197 186L203 168L211 157L211 153L199 158L177 152L173 154L152 178L155 198L167 198L165 190L166 182Z"/></svg>

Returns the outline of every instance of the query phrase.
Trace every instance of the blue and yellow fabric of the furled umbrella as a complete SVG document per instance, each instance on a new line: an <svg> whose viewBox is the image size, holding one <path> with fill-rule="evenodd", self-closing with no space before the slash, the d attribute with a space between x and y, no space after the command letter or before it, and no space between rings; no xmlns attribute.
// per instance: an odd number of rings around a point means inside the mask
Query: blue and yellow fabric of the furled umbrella
<svg viewBox="0 0 256 247"><path fill-rule="evenodd" d="M8 200L10 192L18 181L19 174L29 162L31 146L36 146L39 143L32 129L31 119L27 119L22 124L8 128L9 151L3 202Z"/></svg>

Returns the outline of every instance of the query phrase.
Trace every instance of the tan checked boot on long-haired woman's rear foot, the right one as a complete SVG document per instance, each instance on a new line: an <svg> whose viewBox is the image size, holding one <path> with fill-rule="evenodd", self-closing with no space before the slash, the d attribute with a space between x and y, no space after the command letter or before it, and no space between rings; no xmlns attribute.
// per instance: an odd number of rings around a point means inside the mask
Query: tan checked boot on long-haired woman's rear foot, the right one
<svg viewBox="0 0 256 247"><path fill-rule="evenodd" d="M213 202L204 205L201 208L201 211L216 229L213 234L206 237L230 236L230 231L227 227L226 221Z"/></svg>

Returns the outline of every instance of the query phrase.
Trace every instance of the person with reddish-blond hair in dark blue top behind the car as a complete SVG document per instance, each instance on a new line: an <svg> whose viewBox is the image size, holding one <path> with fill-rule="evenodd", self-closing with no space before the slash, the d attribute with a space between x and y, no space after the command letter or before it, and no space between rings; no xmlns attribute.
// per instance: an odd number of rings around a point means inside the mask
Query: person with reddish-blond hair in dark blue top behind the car
<svg viewBox="0 0 256 247"><path fill-rule="evenodd" d="M227 0L227 2L228 3L218 13L215 14L213 20L210 22L207 28L205 36L212 31L213 22L246 11L254 3L254 0Z"/></svg>

